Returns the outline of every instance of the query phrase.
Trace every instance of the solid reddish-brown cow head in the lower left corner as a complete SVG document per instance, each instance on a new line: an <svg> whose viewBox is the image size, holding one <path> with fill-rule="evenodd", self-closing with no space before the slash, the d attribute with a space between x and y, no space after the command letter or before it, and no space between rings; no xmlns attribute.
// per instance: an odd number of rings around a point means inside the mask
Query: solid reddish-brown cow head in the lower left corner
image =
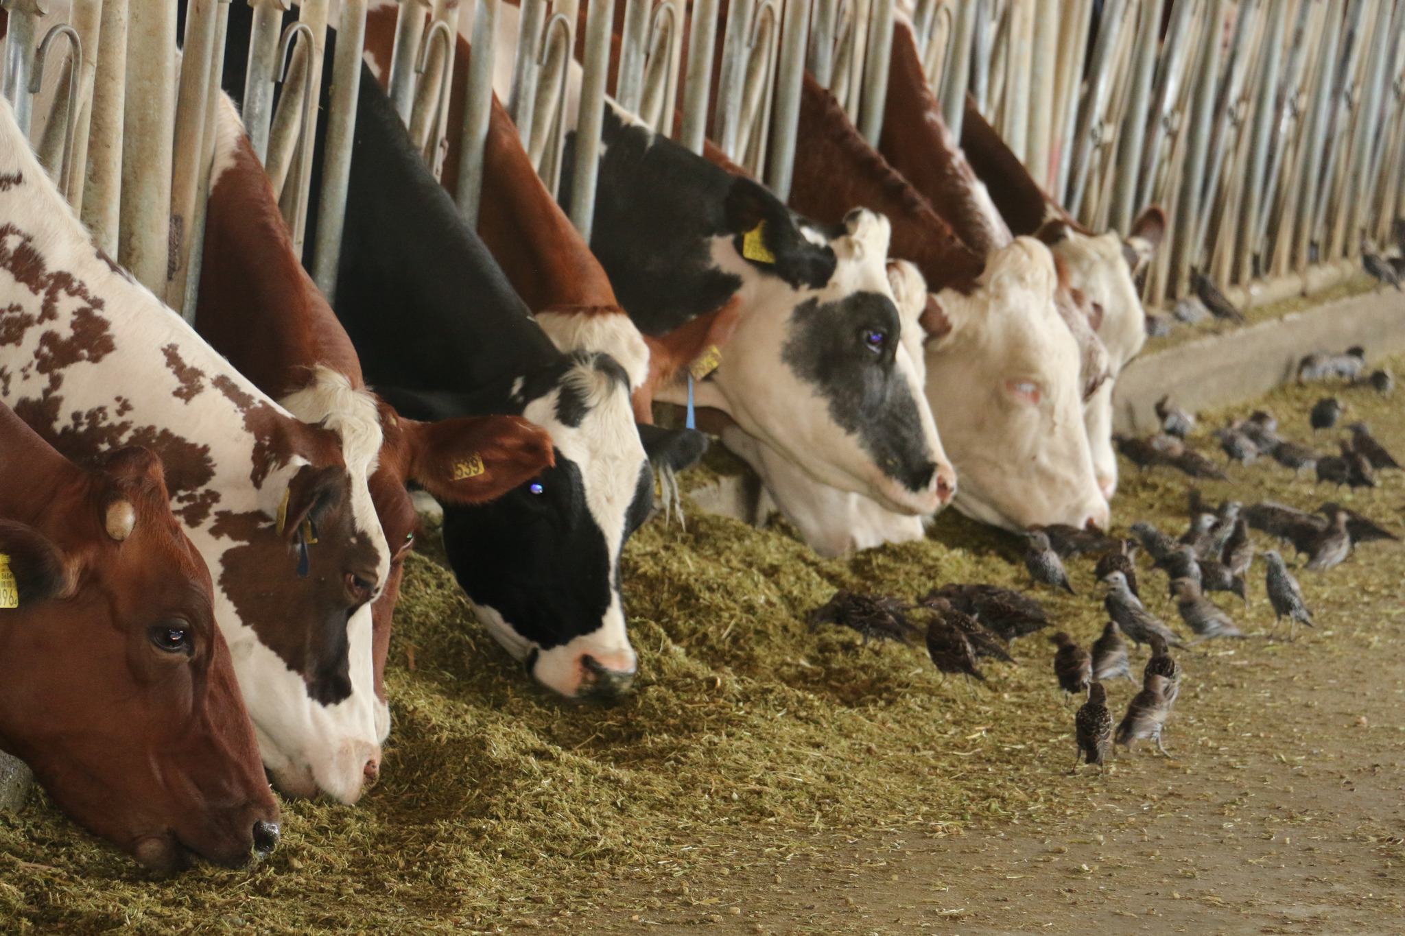
<svg viewBox="0 0 1405 936"><path fill-rule="evenodd" d="M243 864L278 804L160 460L84 472L0 403L0 749L142 864Z"/></svg>

